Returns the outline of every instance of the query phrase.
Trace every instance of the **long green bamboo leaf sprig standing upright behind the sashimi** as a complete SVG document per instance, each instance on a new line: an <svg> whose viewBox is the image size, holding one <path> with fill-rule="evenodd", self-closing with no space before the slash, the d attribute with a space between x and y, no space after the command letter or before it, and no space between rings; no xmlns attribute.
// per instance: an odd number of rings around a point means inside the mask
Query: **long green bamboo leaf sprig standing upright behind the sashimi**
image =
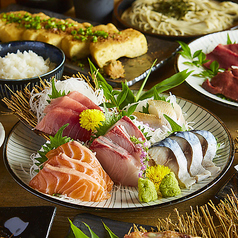
<svg viewBox="0 0 238 238"><path fill-rule="evenodd" d="M98 128L96 128L97 129L97 133L95 134L96 137L104 135L106 131L118 120L120 120L123 116L130 117L132 113L136 110L139 101L152 97L158 98L159 97L158 94L180 85L191 74L191 72L187 72L187 70L184 70L156 84L150 90L143 92L145 84L152 71L152 67L155 63L156 61L152 64L148 75L144 79L139 91L135 96L132 90L130 90L130 88L128 87L126 82L121 83L122 85L121 90L113 89L112 86L107 83L107 81L103 78L103 76L100 74L100 72L96 69L94 64L89 59L91 76L94 81L94 84L97 85L97 88L101 88L103 90L104 96L107 100L107 102L104 103L106 120L103 121ZM108 108L116 108L117 114L115 113L113 113L113 115L109 114Z"/></svg>

